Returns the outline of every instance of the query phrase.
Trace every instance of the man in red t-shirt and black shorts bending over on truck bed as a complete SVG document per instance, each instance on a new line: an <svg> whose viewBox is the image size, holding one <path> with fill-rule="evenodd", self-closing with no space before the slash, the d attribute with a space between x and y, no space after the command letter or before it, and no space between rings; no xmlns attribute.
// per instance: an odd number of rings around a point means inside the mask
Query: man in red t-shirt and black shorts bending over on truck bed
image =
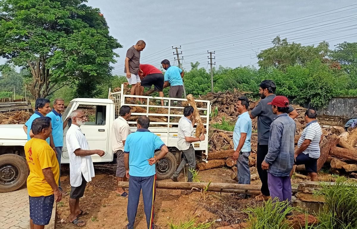
<svg viewBox="0 0 357 229"><path fill-rule="evenodd" d="M160 97L164 97L164 74L151 64L140 64L142 73L139 74L141 86L151 88L154 85L155 91L159 92ZM161 106L164 106L164 100L161 99Z"/></svg>

